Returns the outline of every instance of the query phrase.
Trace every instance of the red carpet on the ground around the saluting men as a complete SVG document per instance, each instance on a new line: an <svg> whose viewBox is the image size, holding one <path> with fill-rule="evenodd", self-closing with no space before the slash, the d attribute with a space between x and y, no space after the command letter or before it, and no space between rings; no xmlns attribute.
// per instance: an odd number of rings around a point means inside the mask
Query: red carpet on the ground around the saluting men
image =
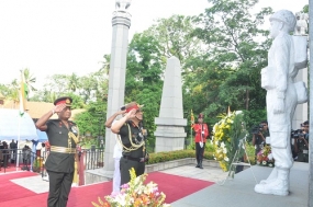
<svg viewBox="0 0 313 207"><path fill-rule="evenodd" d="M24 187L21 187L10 180L32 176L36 173L20 172L0 175L0 206L1 207L44 207L46 206L47 193L36 194ZM38 175L37 175L38 176ZM166 194L166 203L170 204L177 199L195 193L212 182L188 179L160 172L149 173L146 182L158 184L160 192ZM88 207L91 202L97 202L98 197L111 194L112 182L72 187L69 195L68 207Z"/></svg>

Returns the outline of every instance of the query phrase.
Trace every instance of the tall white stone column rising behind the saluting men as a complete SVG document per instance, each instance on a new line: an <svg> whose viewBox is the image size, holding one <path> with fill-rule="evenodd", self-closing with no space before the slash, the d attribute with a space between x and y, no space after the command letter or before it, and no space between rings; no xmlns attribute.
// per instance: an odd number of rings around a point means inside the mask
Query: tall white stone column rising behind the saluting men
<svg viewBox="0 0 313 207"><path fill-rule="evenodd" d="M109 72L109 93L107 118L113 115L124 104L125 93L125 74L126 74L126 56L128 49L128 30L131 26L131 14L126 11L130 7L118 4L116 11L113 12L112 19L112 46ZM113 172L114 160L113 150L115 145L114 134L111 129L105 129L105 152L104 152L104 171Z"/></svg>

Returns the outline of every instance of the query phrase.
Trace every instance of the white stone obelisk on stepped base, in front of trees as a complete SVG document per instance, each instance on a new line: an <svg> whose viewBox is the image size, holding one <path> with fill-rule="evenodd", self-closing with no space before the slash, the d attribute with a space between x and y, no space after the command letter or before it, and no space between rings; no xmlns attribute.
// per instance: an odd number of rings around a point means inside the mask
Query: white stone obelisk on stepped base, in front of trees
<svg viewBox="0 0 313 207"><path fill-rule="evenodd" d="M155 152L183 149L187 119L183 118L181 85L180 61L171 57L167 60L159 117L155 118Z"/></svg>

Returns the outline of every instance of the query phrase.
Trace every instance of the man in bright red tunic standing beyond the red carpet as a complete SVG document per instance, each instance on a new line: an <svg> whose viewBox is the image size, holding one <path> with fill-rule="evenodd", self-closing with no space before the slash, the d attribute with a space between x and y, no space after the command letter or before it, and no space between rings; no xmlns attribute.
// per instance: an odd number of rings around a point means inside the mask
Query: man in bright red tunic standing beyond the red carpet
<svg viewBox="0 0 313 207"><path fill-rule="evenodd" d="M199 114L198 116L198 124L191 125L193 128L195 136L194 136L194 142L195 142L195 158L197 158L197 165L195 168L203 169L202 166L202 159L206 142L206 137L209 136L209 128L205 123L203 123L203 114Z"/></svg>

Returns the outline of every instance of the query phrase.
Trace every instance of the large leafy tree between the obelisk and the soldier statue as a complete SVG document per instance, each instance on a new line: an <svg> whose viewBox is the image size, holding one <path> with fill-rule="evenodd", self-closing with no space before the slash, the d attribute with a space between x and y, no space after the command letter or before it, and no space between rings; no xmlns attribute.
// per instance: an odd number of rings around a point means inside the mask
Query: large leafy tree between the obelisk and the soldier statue
<svg viewBox="0 0 313 207"><path fill-rule="evenodd" d="M205 112L211 115L233 110L265 108L265 90L260 88L260 69L267 65L268 31L261 30L264 16L272 12L262 9L251 15L257 0L209 0L212 7L194 19L193 35L206 44L208 51L189 62L198 80L193 90L208 100ZM202 71L202 72L200 72ZM198 82L198 84L195 83ZM206 95L205 95L206 93Z"/></svg>

